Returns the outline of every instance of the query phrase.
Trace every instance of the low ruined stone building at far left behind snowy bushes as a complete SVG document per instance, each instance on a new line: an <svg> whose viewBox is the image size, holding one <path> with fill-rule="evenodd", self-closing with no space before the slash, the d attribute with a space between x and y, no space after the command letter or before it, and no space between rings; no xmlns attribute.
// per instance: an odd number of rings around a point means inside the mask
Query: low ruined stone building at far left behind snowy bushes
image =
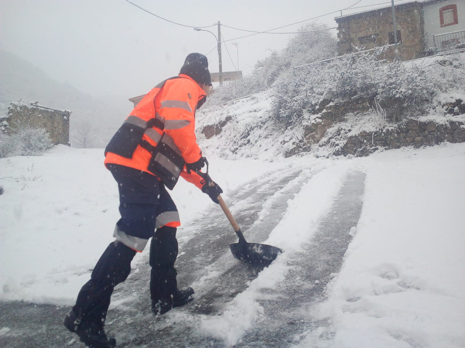
<svg viewBox="0 0 465 348"><path fill-rule="evenodd" d="M46 129L53 144L69 145L71 111L56 110L35 103L11 103L6 117L0 118L0 128L6 132L24 126Z"/></svg>

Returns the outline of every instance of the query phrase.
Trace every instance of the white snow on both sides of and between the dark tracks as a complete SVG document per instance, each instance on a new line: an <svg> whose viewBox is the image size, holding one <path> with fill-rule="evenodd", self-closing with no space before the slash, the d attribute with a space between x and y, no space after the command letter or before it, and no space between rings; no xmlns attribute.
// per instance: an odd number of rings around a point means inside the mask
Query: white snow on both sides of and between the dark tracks
<svg viewBox="0 0 465 348"><path fill-rule="evenodd" d="M294 224L299 230L318 228L348 170L366 173L362 213L347 231L353 239L342 268L327 285L326 297L308 311L318 328L302 332L295 346L465 347L465 144L352 160L208 159L226 199L231 190L270 171L322 168L288 201L265 241L284 251L300 245L302 235L289 233ZM113 240L119 218L117 188L103 166L103 150L58 146L43 156L0 159L0 185L5 189L0 299L73 304L88 270ZM182 180L172 194L185 226L219 209ZM178 235L182 239L182 228ZM284 277L286 252L272 266L246 292ZM228 323L253 321L250 299L246 293L236 296L229 317L210 319L210 333L237 342L247 327Z"/></svg>

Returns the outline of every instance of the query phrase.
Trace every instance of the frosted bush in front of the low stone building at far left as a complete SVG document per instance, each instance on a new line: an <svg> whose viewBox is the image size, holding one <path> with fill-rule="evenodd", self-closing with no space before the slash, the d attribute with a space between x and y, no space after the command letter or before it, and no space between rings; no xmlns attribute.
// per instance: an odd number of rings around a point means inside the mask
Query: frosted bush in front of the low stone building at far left
<svg viewBox="0 0 465 348"><path fill-rule="evenodd" d="M53 146L45 129L31 126L16 129L11 135L0 132L0 158L36 156Z"/></svg>

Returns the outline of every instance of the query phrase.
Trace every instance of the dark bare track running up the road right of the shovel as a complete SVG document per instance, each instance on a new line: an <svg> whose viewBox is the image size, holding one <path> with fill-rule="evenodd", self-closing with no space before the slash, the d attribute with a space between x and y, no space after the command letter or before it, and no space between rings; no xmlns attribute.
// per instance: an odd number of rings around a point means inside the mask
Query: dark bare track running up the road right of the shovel
<svg viewBox="0 0 465 348"><path fill-rule="evenodd" d="M235 347L295 347L300 337L318 327L308 308L323 296L332 273L337 273L357 226L365 189L365 174L350 173L340 188L332 210L320 222L306 249L288 263L291 271L275 290L264 292L272 300L259 301L266 317Z"/></svg>

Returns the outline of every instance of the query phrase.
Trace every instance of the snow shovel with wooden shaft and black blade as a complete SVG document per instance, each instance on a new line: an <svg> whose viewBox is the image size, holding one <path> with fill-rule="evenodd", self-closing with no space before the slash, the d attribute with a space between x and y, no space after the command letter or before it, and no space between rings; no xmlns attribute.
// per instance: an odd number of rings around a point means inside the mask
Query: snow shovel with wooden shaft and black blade
<svg viewBox="0 0 465 348"><path fill-rule="evenodd" d="M208 175L208 161L206 158L204 158L204 160L206 163L206 173L202 173L200 171L196 172L202 176L206 182L208 182L209 186L214 186L212 179L210 179L210 176ZM251 264L269 264L282 252L281 249L272 245L247 243L246 238L244 238L236 220L234 220L233 214L229 211L221 195L218 196L218 201L219 206L221 206L221 209L223 209L223 212L226 215L226 218L229 220L231 226L233 226L234 232L236 232L239 237L239 243L231 243L229 245L234 258Z"/></svg>

